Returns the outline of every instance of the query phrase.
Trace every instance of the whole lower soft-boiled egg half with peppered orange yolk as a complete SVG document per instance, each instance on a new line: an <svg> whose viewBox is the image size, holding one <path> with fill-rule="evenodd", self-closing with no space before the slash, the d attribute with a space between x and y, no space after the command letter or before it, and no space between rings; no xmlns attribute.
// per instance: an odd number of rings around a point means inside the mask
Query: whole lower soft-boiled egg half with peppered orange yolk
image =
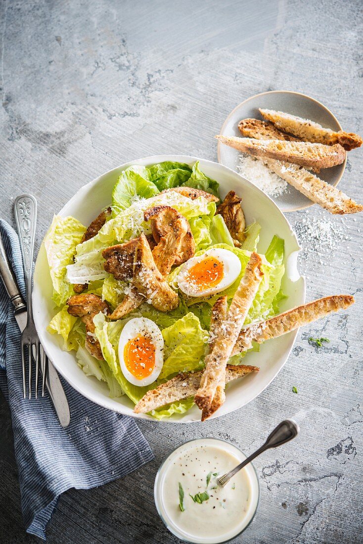
<svg viewBox="0 0 363 544"><path fill-rule="evenodd" d="M150 385L161 373L164 339L159 327L145 317L130 319L121 331L119 361L130 384Z"/></svg>

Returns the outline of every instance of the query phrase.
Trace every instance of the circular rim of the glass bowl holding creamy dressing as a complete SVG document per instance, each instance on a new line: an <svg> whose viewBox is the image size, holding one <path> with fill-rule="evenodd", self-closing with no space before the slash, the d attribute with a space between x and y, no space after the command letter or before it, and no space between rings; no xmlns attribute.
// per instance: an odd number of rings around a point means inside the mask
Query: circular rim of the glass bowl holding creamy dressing
<svg viewBox="0 0 363 544"><path fill-rule="evenodd" d="M157 491L158 491L158 480L160 478L160 474L161 474L161 471L162 471L162 468L164 467L165 463L167 463L169 457L171 455L173 455L179 448L182 448L183 446L187 446L187 444L190 444L192 442L198 442L200 440L205 440L206 442L210 441L210 440L214 440L216 442L222 442L222 443L225 443L225 444L229 444L229 446L231 446L232 448L236 449L239 453L242 453L242 455L244 456L245 459L248 458L248 455L245 454L243 452L243 450L241 448L239 448L238 446L236 446L236 444L232 444L232 442L229 442L227 440L224 440L224 438L217 438L217 437L214 437L214 436L201 436L199 438L192 438L191 440L187 440L187 442L182 442L181 444L179 444L179 446L176 446L176 448L174 448L170 453L169 455L167 455L165 458L163 458L159 468L158 468L158 471L155 475L155 481L154 481L154 486L153 486L153 498L154 498L154 503L155 503L155 506L156 506L156 510L157 510L157 513L158 513L158 516L159 518L162 520L162 522L164 523L165 527L170 531L171 534L173 534L174 536L176 536L178 539L180 539L180 536L177 535L176 533L174 533L173 530L171 530L171 528L168 526L168 522L167 520L164 519L163 515L161 514L161 511L159 509L159 502L157 500ZM257 474L257 470L256 470L256 467L255 465L253 464L252 461L250 461L248 463L252 469L253 469L253 474L254 474L254 478L256 478L256 483L257 483L257 501L256 501L256 508L254 509L254 512L253 512L253 515L251 516L249 522L247 523L247 525L241 530L239 531L239 533L236 533L234 536L231 536L229 539L227 540L221 540L219 542L219 544L227 544L227 542L231 542L232 540L234 540L235 538L237 538L237 536L240 536L242 535L242 533L244 533L244 531L246 529L248 529L248 527L250 526L250 524L253 522L255 516L256 516L256 512L257 510L259 509L259 505L260 505L260 499L261 499L261 486L260 486L260 480L259 480L259 475ZM182 542L187 542L189 544L193 544L193 542L190 542L189 540L182 540Z"/></svg>

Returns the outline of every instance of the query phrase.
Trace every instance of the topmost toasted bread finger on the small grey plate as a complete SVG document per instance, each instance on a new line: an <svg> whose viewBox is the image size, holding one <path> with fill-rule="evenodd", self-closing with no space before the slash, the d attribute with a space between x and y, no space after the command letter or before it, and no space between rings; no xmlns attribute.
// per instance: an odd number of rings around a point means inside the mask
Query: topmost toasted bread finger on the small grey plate
<svg viewBox="0 0 363 544"><path fill-rule="evenodd" d="M330 128L324 128L319 123L310 121L310 119L276 112L273 109L260 109L260 113L264 119L273 122L275 127L281 131L290 132L305 141L327 145L340 144L347 151L354 149L354 147L360 147L363 143L358 134L332 131Z"/></svg>

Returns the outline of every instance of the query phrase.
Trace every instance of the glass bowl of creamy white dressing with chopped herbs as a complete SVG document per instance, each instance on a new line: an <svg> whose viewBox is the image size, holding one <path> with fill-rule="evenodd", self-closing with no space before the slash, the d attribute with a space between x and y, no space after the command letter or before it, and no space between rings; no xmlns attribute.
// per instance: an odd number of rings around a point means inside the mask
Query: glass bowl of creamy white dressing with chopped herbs
<svg viewBox="0 0 363 544"><path fill-rule="evenodd" d="M233 444L198 438L176 448L155 478L159 516L171 533L193 544L222 544L243 533L260 498L252 463L224 486L217 478L246 458Z"/></svg>

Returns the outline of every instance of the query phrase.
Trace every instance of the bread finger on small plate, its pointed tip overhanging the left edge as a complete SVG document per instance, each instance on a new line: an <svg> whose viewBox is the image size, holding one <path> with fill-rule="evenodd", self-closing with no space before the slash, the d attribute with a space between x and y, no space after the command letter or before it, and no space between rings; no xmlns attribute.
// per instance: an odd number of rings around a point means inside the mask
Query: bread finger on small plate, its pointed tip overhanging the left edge
<svg viewBox="0 0 363 544"><path fill-rule="evenodd" d="M346 158L346 152L339 144L329 146L310 144L305 141L257 140L221 135L216 138L223 144L255 157L285 160L300 166L330 168L330 166L341 164Z"/></svg>

